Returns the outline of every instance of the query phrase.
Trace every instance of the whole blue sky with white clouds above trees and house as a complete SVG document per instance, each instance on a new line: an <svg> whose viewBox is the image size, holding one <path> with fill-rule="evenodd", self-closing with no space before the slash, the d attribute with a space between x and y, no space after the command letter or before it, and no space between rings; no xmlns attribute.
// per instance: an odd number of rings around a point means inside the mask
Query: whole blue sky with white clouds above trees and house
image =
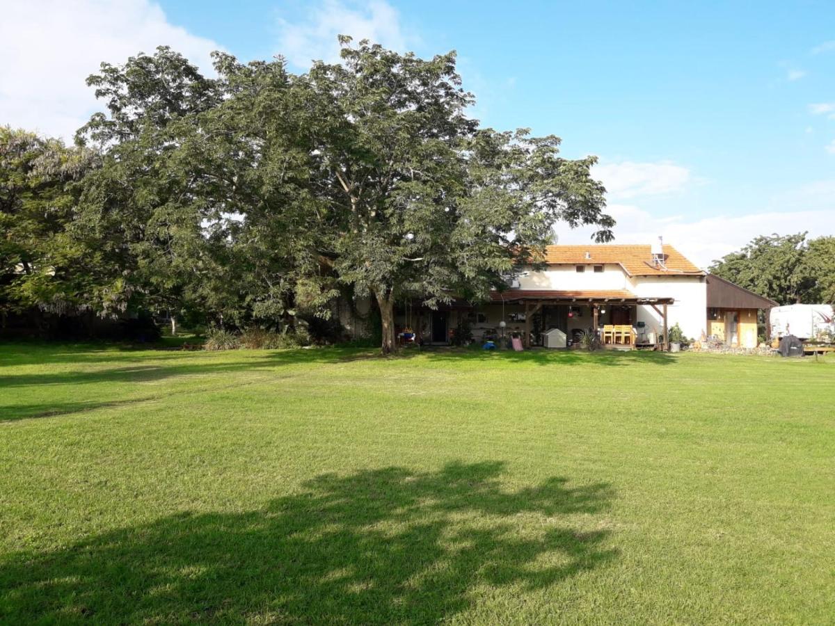
<svg viewBox="0 0 835 626"><path fill-rule="evenodd" d="M0 25L0 123L67 135L94 108L83 88L94 59L169 43L204 67L224 48L244 60L284 54L301 70L334 58L342 32L421 55L455 49L483 124L598 155L619 241L665 235L706 265L758 234L835 234L835 3L241 4L13 8ZM32 43L43 62L12 67ZM55 93L33 87L55 76Z"/></svg>

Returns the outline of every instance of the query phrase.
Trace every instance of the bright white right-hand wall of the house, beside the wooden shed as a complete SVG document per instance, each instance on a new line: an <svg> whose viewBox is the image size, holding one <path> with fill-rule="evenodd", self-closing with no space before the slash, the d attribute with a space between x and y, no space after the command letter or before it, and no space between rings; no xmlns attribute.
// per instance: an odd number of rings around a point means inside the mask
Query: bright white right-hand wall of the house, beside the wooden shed
<svg viewBox="0 0 835 626"><path fill-rule="evenodd" d="M699 339L707 331L707 283L704 276L638 276L630 280L629 290L645 298L673 298L667 306L667 326L678 323L685 336ZM661 305L657 305L662 309ZM649 305L638 307L638 320L645 322L656 336L664 331L664 321Z"/></svg>

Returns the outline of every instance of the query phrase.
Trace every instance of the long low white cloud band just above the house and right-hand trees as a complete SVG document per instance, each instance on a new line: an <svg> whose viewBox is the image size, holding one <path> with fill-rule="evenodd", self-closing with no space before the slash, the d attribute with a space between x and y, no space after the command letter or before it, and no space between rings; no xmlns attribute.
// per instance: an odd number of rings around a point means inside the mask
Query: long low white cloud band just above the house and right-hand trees
<svg viewBox="0 0 835 626"><path fill-rule="evenodd" d="M777 210L747 215L651 215L635 204L610 204L608 212L615 217L615 242L647 244L663 236L665 243L675 245L696 265L706 268L711 261L739 250L758 235L809 231L810 237L835 233L835 180L804 185L772 199ZM798 210L792 210L797 207ZM593 228L558 229L559 243L590 242Z"/></svg>

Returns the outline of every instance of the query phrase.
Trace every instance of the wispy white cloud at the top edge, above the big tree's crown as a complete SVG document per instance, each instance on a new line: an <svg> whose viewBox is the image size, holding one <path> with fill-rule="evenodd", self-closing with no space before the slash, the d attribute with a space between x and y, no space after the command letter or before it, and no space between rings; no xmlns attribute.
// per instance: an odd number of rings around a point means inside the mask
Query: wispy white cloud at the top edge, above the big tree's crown
<svg viewBox="0 0 835 626"><path fill-rule="evenodd" d="M337 63L337 35L350 35L354 41L368 39L399 52L405 52L414 39L404 32L397 10L383 0L311 3L301 21L279 17L278 28L277 53L297 68L308 68L314 60Z"/></svg>

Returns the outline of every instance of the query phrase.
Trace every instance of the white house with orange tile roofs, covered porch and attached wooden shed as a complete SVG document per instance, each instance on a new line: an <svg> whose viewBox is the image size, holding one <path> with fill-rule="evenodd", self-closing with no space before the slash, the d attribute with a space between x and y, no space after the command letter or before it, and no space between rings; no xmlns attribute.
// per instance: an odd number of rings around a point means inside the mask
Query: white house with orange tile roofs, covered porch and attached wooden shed
<svg viewBox="0 0 835 626"><path fill-rule="evenodd" d="M542 345L550 329L578 341L597 328L605 343L665 346L678 325L688 338L718 336L731 346L757 346L757 310L775 305L708 275L671 245L549 245L544 269L523 269L488 303L454 300L438 310L400 310L399 328L425 343L445 344L464 317L477 341L519 333ZM503 324L504 322L504 324Z"/></svg>

